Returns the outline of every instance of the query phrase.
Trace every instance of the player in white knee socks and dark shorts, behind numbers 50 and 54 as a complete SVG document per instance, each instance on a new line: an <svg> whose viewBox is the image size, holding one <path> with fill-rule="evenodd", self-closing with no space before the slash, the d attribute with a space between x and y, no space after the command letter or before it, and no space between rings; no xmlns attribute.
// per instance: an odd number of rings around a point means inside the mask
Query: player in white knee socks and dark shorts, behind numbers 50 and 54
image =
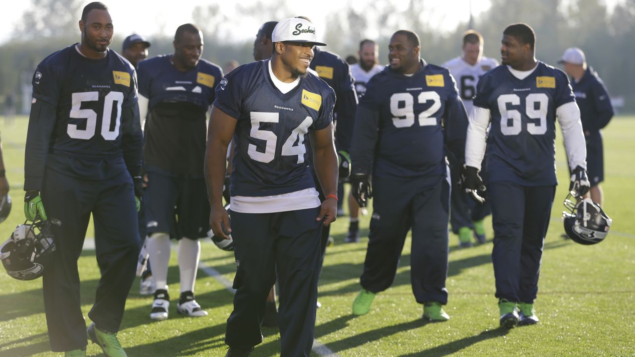
<svg viewBox="0 0 635 357"><path fill-rule="evenodd" d="M139 62L139 95L145 122L147 248L156 283L150 318L168 318L170 238L178 239L180 299L177 313L206 316L194 299L201 244L209 228L203 158L206 115L222 79L217 65L201 59L203 34L196 25L177 28L174 53Z"/></svg>

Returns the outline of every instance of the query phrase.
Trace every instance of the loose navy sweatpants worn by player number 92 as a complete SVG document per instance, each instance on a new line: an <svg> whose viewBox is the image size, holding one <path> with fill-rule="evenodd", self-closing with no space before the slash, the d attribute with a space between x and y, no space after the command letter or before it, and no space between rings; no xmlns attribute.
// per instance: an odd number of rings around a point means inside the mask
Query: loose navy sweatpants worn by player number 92
<svg viewBox="0 0 635 357"><path fill-rule="evenodd" d="M406 234L412 228L410 281L417 302L448 302L450 185L423 179L373 177L373 215L361 286L382 292L394 281Z"/></svg>

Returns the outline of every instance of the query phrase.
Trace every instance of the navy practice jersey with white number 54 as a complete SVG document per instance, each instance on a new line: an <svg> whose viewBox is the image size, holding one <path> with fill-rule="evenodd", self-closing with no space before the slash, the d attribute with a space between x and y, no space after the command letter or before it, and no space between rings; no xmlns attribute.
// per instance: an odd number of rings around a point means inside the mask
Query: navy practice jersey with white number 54
<svg viewBox="0 0 635 357"><path fill-rule="evenodd" d="M333 121L335 93L311 72L288 93L269 76L269 60L241 65L216 88L214 106L237 119L232 196L270 196L316 187L308 133Z"/></svg>

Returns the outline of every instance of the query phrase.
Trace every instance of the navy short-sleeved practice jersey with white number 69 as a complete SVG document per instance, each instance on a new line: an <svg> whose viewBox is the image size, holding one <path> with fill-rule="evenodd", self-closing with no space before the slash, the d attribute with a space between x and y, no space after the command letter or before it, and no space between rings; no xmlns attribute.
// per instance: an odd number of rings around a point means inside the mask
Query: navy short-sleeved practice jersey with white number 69
<svg viewBox="0 0 635 357"><path fill-rule="evenodd" d="M566 74L538 61L535 71L518 79L501 65L481 77L476 93L474 105L491 114L490 182L556 185L556 109L575 100Z"/></svg>

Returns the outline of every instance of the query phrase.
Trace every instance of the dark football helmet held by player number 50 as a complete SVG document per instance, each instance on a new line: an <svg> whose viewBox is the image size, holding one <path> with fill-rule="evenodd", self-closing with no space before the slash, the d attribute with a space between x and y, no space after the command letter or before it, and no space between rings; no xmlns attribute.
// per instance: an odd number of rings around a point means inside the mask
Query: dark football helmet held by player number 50
<svg viewBox="0 0 635 357"><path fill-rule="evenodd" d="M42 276L55 252L50 225L43 220L20 224L0 246L0 259L11 278L34 280Z"/></svg>

